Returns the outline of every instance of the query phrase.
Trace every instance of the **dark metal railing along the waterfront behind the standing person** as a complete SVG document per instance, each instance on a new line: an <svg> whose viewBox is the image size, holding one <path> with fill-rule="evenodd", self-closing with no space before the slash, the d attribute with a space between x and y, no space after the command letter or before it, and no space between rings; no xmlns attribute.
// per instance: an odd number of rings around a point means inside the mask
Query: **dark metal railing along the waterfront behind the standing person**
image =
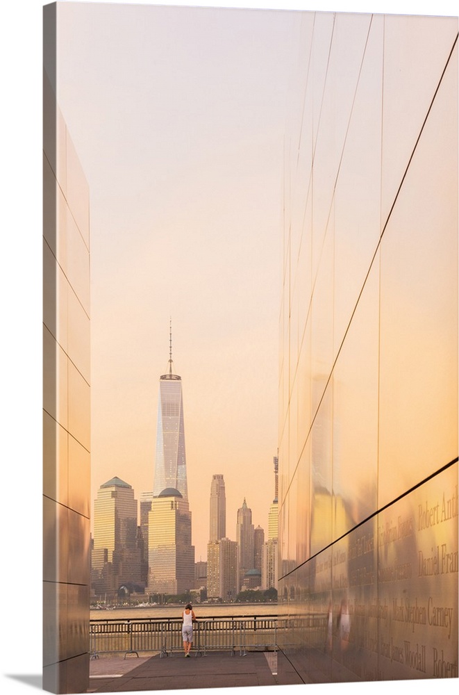
<svg viewBox="0 0 459 695"><path fill-rule="evenodd" d="M285 616L214 616L194 623L193 650L196 656L208 651L276 651L279 624L285 629ZM160 653L161 657L183 651L180 618L97 619L90 621L91 658L99 654Z"/></svg>

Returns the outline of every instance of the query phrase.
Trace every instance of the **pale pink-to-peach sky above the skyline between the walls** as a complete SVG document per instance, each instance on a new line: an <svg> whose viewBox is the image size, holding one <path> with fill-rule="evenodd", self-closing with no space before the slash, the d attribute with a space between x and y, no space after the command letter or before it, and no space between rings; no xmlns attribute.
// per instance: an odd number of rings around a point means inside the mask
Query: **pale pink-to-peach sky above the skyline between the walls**
<svg viewBox="0 0 459 695"><path fill-rule="evenodd" d="M158 379L183 379L196 559L267 532L277 446L285 97L299 14L61 3L58 102L90 186L92 501L153 486Z"/></svg>

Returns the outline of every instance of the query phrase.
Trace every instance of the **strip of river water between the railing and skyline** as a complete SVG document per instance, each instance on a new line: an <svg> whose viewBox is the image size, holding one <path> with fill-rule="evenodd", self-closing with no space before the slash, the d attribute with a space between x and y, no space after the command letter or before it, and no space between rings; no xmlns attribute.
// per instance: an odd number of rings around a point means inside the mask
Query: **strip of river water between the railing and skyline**
<svg viewBox="0 0 459 695"><path fill-rule="evenodd" d="M185 606L156 605L151 607L123 607L112 610L91 610L91 620L142 620L145 618L180 618ZM193 605L198 619L212 616L263 616L277 615L277 603L197 603Z"/></svg>

